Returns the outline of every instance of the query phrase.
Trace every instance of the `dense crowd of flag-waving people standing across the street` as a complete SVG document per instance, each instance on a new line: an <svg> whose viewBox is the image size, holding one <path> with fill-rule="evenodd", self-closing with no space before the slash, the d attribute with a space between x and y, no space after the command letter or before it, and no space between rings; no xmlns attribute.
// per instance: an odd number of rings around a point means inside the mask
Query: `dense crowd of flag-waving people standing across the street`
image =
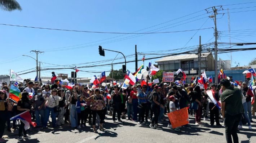
<svg viewBox="0 0 256 143"><path fill-rule="evenodd" d="M15 103L9 99L9 86L2 82L0 90L0 142L6 142L2 138L4 130L12 132L18 129L18 140L30 138L25 130L25 124L10 118L24 111L29 111L32 121L36 122L36 128L53 127L69 124L71 128L93 127L93 132L105 130L106 115L112 116L112 122L122 122L122 119L132 120L137 124L149 123L150 128L160 128L164 121L164 114L182 108L189 110L190 116L195 115L195 125L205 125L201 120L209 121L211 126L221 126L220 119L225 118L226 140L230 142L238 140L236 135L242 125L248 124L252 129L252 118L255 118L256 104L251 105L251 99L246 94L248 87L245 82L242 86L234 87L229 80L222 80L219 85L209 84L207 90L217 101L221 101L221 110L217 108L211 98L208 97L203 85L160 83L149 86L135 84L127 89L114 85L109 88L88 88L79 86L67 89L58 84L41 86L38 81L25 81L25 86L18 84L21 91L21 99ZM253 87L255 96L256 85ZM108 90L106 90L108 89ZM30 97L29 93L34 95ZM233 96L231 96L233 95ZM51 125L49 124L51 118ZM117 118L117 120L116 120ZM7 124L7 125L6 125ZM19 125L19 128L18 128ZM7 127L6 127L7 126ZM181 132L180 127L172 128L169 121L168 128ZM232 142L232 141L231 141Z"/></svg>

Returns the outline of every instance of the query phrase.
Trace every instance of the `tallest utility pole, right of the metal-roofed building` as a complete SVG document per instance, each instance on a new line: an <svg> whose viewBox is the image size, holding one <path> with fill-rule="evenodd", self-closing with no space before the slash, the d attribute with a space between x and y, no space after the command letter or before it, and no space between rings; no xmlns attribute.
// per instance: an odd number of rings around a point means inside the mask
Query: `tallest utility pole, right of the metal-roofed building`
<svg viewBox="0 0 256 143"><path fill-rule="evenodd" d="M214 48L214 60L215 60L215 66L214 66L214 73L215 73L215 84L218 84L218 69L217 69L217 64L218 64L218 43L217 43L217 37L218 37L218 33L217 33L217 22L216 22L216 14L217 14L217 9L215 8L215 6L212 7L212 10L214 12L214 25L215 25L215 48Z"/></svg>

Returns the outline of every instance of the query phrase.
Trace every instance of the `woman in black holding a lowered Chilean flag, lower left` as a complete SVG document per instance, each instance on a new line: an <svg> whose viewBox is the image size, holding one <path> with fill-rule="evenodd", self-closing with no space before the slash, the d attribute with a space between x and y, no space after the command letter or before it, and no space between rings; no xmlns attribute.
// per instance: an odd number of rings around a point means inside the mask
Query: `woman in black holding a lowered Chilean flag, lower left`
<svg viewBox="0 0 256 143"><path fill-rule="evenodd" d="M21 100L18 101L17 104L17 114L21 114L25 111L30 111L32 109L32 103L29 99L28 92L22 92ZM25 124L21 121L21 125L19 126L19 135L18 140L29 139L30 136L27 135L27 131L25 130ZM22 137L23 132L23 137Z"/></svg>

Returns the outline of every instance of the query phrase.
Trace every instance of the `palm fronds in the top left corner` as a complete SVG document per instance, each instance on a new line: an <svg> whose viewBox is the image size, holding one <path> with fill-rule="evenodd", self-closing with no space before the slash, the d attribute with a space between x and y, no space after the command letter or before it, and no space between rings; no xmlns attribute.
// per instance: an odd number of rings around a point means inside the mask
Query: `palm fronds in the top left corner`
<svg viewBox="0 0 256 143"><path fill-rule="evenodd" d="M0 0L0 9L6 11L22 10L21 6L16 0Z"/></svg>

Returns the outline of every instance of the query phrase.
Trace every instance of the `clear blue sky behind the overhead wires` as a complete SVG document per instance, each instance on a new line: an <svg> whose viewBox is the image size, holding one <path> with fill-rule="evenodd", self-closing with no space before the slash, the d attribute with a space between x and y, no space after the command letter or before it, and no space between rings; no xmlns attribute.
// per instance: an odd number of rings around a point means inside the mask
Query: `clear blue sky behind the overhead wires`
<svg viewBox="0 0 256 143"><path fill-rule="evenodd" d="M254 29L256 21L253 19L256 11L232 13L237 11L255 10L256 8L245 7L256 6L256 3L230 5L251 2L247 0L184 0L182 2L167 0L77 0L75 3L74 1L72 1L73 3L70 3L68 0L17 1L22 6L23 10L12 12L1 10L0 23L32 27L102 32L134 32L148 27L151 28L141 30L139 32L147 32L150 30L151 32L155 32L157 30L160 30L159 32L180 31L214 27L213 20L206 17L211 15L211 13L206 14L206 11L203 9L216 5L226 5L223 6L223 8L230 9L231 31L237 29ZM200 12L180 18L181 16L188 15L197 11ZM219 31L228 30L228 14L226 14L226 12L226 10L222 10L219 11L219 13L225 14L223 16L222 14L217 15L217 29ZM197 17L193 18L195 16ZM176 18L180 19L173 20ZM154 25L158 26L152 27ZM123 35L66 32L58 30L20 28L0 25L0 31L0 45L2 51L0 59L0 75L8 74L9 69L13 69L16 72L19 72L34 68L35 60L22 56L23 54L26 54L35 58L36 55L35 53L30 53L31 50L45 51L45 53L39 54L39 61L43 62L41 68L61 68L63 66L57 65L68 65L66 67L74 67L74 65L76 65L79 67L111 63L111 61L90 63L93 61L102 61L115 58L116 56L116 53L108 51L105 51L105 57L100 56L98 54L98 45L101 45L106 49L121 51L125 55L131 55L134 54L135 45L137 45L138 52L149 53L149 51L171 50L198 45L199 35L202 37L202 44L214 41L213 29L198 30L198 32L190 31L165 34ZM224 34L228 33L221 33L221 37L219 37L218 42L229 42L228 37L224 37ZM232 34L234 37L231 38L231 42L255 42L255 36L253 35L254 33L244 34L245 36L239 35L240 33ZM191 39L191 37L193 38ZM189 39L191 40L189 41ZM175 52L177 51L168 51L165 53ZM247 65L248 62L255 57L252 54L253 52L255 51L233 52L233 66L237 65L238 62L240 63L240 66ZM154 56L159 55L146 55L146 58ZM121 55L119 54L118 57L121 57ZM230 53L219 54L219 57L222 59L230 59ZM142 55L139 55L138 59L141 58ZM127 61L134 59L134 56L127 56ZM124 59L117 59L114 62L122 61L124 61ZM156 59L152 59L150 61L154 62ZM145 61L145 65L147 65L150 61ZM55 65L49 65L47 63ZM142 61L139 61L138 67L141 64ZM120 68L122 68L122 64L114 65L114 69ZM80 68L80 70L84 71L97 72L109 71L110 69L111 66ZM127 63L127 69L131 72L134 72L135 63ZM42 71L41 76L50 77L52 71L55 71L56 73L68 73L70 76L70 72L74 70ZM79 72L78 77L91 77L95 74L98 75L99 73ZM109 72L106 73L106 75L108 74ZM35 75L36 72L32 72L21 75L21 77L35 78Z"/></svg>

